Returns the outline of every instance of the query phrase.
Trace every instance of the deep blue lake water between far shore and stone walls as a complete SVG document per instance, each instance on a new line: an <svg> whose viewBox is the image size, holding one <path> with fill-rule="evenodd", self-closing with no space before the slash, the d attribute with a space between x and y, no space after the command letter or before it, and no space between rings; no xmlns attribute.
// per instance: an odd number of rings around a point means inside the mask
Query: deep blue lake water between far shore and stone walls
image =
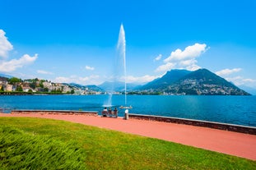
<svg viewBox="0 0 256 170"><path fill-rule="evenodd" d="M54 109L101 112L109 95L2 95L0 108ZM256 96L128 95L129 113L182 117L211 122L256 126ZM112 108L124 105L113 95ZM123 116L119 109L119 116Z"/></svg>

